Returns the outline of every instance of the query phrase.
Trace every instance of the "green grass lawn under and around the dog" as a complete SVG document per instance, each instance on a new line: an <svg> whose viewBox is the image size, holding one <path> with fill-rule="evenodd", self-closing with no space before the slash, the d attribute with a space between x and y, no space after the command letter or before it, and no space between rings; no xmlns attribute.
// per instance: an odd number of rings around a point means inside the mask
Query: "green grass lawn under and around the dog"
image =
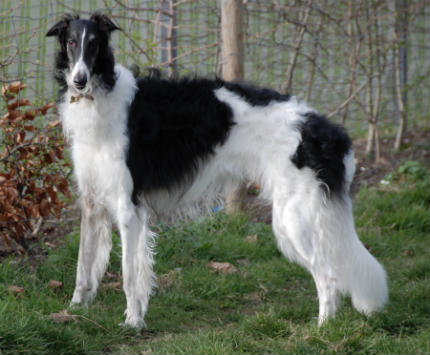
<svg viewBox="0 0 430 355"><path fill-rule="evenodd" d="M156 272L163 285L151 298L148 329L123 329L125 297L99 288L88 311L54 323L70 301L78 232L31 267L13 259L0 269L0 354L430 353L429 176L392 176L388 186L355 197L357 229L387 269L390 302L370 318L345 299L337 317L317 326L311 277L278 252L269 226L247 216L217 214L179 227L158 227ZM246 240L257 235L257 243ZM48 249L48 248L47 248ZM109 271L120 272L114 237ZM237 272L212 272L209 261ZM50 280L63 288L48 287ZM114 280L115 281L115 280ZM103 283L112 282L104 279ZM24 287L18 295L10 285Z"/></svg>

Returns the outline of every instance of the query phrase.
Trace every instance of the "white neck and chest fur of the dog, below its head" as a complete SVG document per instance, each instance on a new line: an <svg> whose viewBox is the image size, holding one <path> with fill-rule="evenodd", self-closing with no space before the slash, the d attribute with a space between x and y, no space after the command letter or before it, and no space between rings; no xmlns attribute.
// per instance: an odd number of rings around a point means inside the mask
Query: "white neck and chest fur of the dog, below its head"
<svg viewBox="0 0 430 355"><path fill-rule="evenodd" d="M115 204L118 194L132 189L125 165L127 112L136 83L122 66L117 65L115 72L117 81L110 92L94 92L94 100L81 98L71 103L72 93L68 91L59 107L64 134L71 142L79 191L95 195L107 206Z"/></svg>

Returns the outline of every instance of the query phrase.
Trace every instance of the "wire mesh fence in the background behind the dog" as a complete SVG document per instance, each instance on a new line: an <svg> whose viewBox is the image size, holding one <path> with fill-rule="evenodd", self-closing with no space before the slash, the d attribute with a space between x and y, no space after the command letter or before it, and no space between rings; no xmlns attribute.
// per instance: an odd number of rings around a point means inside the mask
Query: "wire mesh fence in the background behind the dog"
<svg viewBox="0 0 430 355"><path fill-rule="evenodd" d="M394 38L394 2L245 1L245 79L288 89L326 113L337 113L361 88L348 103L349 116L360 120L366 91L376 95L369 76L376 80L380 75L380 113L393 123L393 53L400 43ZM52 99L56 44L44 34L66 12L85 17L97 9L123 29L112 41L119 62L158 67L168 74L220 75L219 1L2 0L0 80L23 80L27 95ZM409 107L419 112L410 112L413 120L429 111L429 5L425 0L409 1L407 10L409 81L404 90L409 93Z"/></svg>

